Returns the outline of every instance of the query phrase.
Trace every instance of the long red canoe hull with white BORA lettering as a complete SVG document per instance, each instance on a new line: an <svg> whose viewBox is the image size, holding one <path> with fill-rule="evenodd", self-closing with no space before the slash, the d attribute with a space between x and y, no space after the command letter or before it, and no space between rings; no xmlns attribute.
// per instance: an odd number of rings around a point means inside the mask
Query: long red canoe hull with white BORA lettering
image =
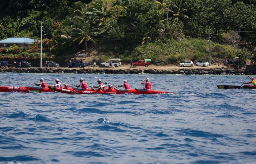
<svg viewBox="0 0 256 164"><path fill-rule="evenodd" d="M172 93L166 91L158 91L158 90L144 90L144 89L130 89L130 90L118 90L114 89L113 86L109 86L108 89L102 91L101 89L75 89L65 87L64 89L60 89L58 87L53 88L54 91L68 94L162 94L162 93Z"/></svg>

